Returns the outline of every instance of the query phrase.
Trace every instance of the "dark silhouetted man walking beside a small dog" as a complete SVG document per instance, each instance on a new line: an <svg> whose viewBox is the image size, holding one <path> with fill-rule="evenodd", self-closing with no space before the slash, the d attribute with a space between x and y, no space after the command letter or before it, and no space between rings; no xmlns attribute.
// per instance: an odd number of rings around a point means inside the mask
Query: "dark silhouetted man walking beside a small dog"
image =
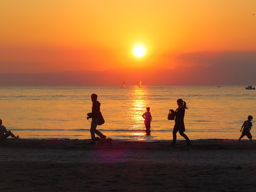
<svg viewBox="0 0 256 192"><path fill-rule="evenodd" d="M100 112L100 102L97 101L97 98L98 96L96 94L91 95L91 100L93 102L92 112L87 113L87 120L89 118L92 118L91 129L90 129L92 141L88 143L89 145L96 145L95 133L102 139L106 138L106 136L103 135L102 132L96 129L97 125L101 125L100 119L102 117L102 114Z"/></svg>

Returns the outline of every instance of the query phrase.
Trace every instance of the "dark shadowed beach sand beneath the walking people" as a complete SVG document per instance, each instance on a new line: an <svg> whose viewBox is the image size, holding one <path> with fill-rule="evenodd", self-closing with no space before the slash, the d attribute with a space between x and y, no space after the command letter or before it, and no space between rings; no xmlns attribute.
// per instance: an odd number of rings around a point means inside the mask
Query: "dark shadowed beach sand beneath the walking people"
<svg viewBox="0 0 256 192"><path fill-rule="evenodd" d="M255 191L256 142L0 141L1 191Z"/></svg>

